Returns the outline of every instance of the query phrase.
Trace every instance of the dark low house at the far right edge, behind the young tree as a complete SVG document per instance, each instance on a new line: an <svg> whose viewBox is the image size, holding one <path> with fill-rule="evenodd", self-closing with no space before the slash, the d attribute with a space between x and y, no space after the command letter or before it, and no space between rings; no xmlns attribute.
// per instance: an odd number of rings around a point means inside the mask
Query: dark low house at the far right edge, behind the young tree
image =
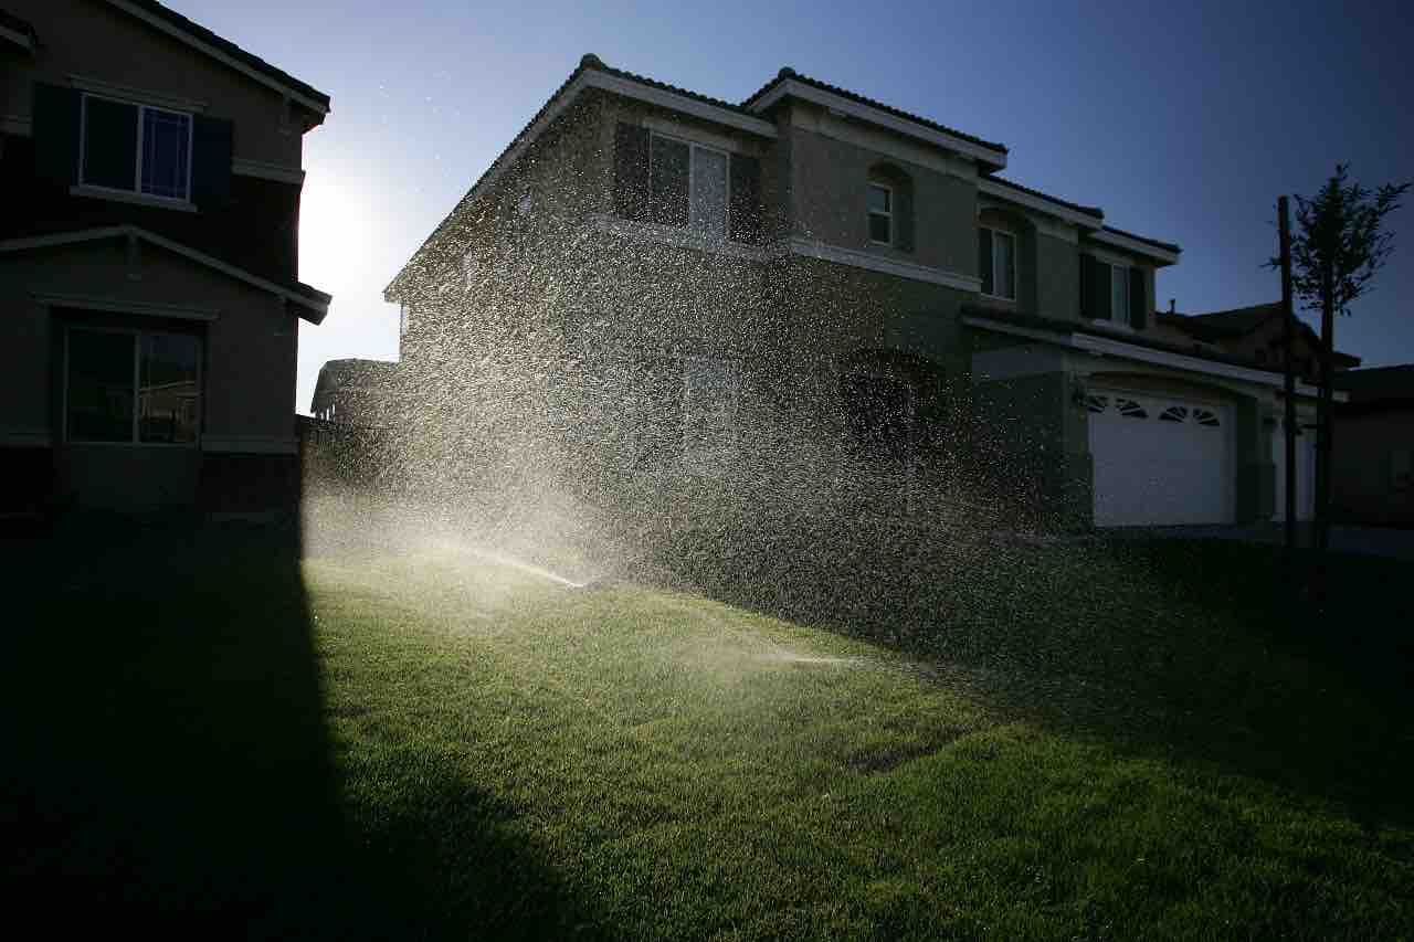
<svg viewBox="0 0 1414 942"><path fill-rule="evenodd" d="M1339 373L1331 512L1335 519L1414 526L1414 364Z"/></svg>

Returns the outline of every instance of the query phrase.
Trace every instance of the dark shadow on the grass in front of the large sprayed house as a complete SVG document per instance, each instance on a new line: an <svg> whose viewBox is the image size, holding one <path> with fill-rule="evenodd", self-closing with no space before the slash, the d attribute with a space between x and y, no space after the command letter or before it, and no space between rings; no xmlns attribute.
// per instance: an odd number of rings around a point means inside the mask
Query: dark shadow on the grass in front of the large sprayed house
<svg viewBox="0 0 1414 942"><path fill-rule="evenodd" d="M687 533L659 560L730 604L959 668L939 678L1008 716L1414 822L1414 566L1333 557L1316 617L1280 562L885 519Z"/></svg>

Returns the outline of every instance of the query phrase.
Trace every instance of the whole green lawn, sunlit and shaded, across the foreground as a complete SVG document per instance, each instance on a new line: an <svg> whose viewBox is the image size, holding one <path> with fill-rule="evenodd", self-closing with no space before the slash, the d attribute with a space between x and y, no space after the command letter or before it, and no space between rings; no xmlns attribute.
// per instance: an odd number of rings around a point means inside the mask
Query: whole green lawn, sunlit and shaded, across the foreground
<svg viewBox="0 0 1414 942"><path fill-rule="evenodd" d="M1282 634L1266 549L1012 547L894 597L891 627L863 594L806 618L452 550L181 539L10 560L4 873L61 924L1414 934L1403 649ZM1343 578L1394 598L1406 571Z"/></svg>

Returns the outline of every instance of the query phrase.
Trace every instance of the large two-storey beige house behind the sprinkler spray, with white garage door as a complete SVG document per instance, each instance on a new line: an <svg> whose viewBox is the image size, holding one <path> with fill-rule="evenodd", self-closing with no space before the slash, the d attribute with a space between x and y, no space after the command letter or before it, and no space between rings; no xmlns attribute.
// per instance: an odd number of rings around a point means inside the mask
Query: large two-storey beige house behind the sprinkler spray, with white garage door
<svg viewBox="0 0 1414 942"><path fill-rule="evenodd" d="M1066 526L1271 518L1281 373L1159 322L1176 245L1008 161L789 68L734 103L585 55L385 291L423 464L539 443L687 513L987 475Z"/></svg>

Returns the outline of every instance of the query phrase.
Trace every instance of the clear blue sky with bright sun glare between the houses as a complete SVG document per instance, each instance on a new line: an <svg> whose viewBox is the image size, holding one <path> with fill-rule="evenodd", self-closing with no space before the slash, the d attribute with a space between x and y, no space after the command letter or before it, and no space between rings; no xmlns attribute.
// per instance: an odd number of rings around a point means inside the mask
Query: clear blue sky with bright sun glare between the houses
<svg viewBox="0 0 1414 942"><path fill-rule="evenodd" d="M332 96L304 139L300 277L334 304L300 324L300 412L327 359L397 358L383 287L585 52L734 102L789 65L1001 141L1005 177L1181 245L1157 297L1185 313L1280 297L1280 194L1336 161L1414 180L1398 3L167 3ZM1414 361L1407 202L1336 325L1365 365Z"/></svg>

